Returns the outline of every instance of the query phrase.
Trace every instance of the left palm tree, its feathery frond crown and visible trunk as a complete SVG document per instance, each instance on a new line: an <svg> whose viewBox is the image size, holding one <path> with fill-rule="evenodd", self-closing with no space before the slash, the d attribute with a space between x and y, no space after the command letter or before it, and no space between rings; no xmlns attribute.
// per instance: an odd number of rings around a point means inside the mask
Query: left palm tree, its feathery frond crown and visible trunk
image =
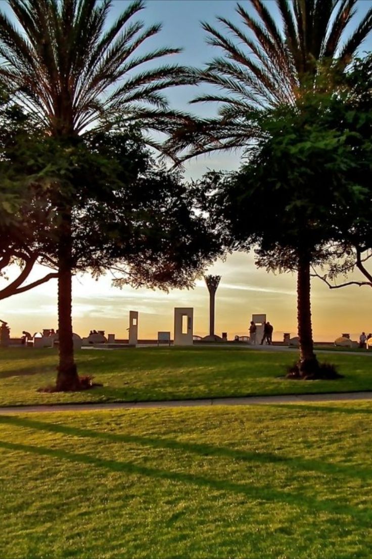
<svg viewBox="0 0 372 559"><path fill-rule="evenodd" d="M141 121L142 129L166 132L180 116L168 109L162 92L183 83L185 69L170 64L153 67L154 61L180 49L143 52L143 43L161 30L158 24L145 27L133 21L144 8L143 0L126 6L110 27L112 0L7 3L15 22L0 11L0 85L11 91L13 100L40 122L47 135L68 146L88 130L90 134L92 129L108 130L117 122ZM73 202L62 192L57 211L57 389L75 390L79 377L71 322Z"/></svg>

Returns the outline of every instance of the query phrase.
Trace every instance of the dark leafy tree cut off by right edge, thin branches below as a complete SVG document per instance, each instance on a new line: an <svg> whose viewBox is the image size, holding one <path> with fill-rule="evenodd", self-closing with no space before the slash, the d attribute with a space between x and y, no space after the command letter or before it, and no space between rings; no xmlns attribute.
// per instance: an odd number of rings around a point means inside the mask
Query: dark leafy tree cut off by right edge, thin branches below
<svg viewBox="0 0 372 559"><path fill-rule="evenodd" d="M355 169L351 179L364 191L363 202L357 207L350 206L344 212L334 215L337 236L329 247L330 259L322 269L313 268L313 276L321 278L331 289L349 285L372 287L372 273L369 260L372 255L372 56L355 60L347 74L343 88L347 112L344 118L337 118L335 129L348 129L354 138L353 158ZM351 272L358 271L362 279L347 280ZM326 272L326 273L325 273ZM343 276L344 281L338 278Z"/></svg>

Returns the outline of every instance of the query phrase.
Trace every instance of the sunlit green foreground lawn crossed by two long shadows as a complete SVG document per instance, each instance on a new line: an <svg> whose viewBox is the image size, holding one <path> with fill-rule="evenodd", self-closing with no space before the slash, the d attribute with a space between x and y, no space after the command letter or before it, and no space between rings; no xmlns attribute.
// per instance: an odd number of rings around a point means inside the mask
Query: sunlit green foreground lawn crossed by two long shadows
<svg viewBox="0 0 372 559"><path fill-rule="evenodd" d="M0 416L2 557L371 557L369 402Z"/></svg>

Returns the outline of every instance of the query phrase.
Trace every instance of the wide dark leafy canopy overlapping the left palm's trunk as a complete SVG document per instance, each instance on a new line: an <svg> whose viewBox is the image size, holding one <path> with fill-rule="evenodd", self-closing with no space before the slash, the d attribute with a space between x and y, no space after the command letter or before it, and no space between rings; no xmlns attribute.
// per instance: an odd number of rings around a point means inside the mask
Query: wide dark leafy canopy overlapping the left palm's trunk
<svg viewBox="0 0 372 559"><path fill-rule="evenodd" d="M24 151L27 157L18 154L17 164L26 177L34 177L33 190L38 188L46 201L42 208L47 219L40 234L33 236L39 262L59 268L55 245L63 193L74 196L72 274L90 271L98 277L111 269L119 287L129 283L167 290L192 285L212 250L204 220L193 214L180 173L157 165L137 130L86 134L67 148L56 138L32 140L32 148ZM30 224L32 212L27 208ZM40 227L41 221L35 225ZM13 241L15 250L20 241ZM63 313L63 301L60 306ZM59 331L60 342L62 337ZM78 388L79 383L59 369L57 389Z"/></svg>

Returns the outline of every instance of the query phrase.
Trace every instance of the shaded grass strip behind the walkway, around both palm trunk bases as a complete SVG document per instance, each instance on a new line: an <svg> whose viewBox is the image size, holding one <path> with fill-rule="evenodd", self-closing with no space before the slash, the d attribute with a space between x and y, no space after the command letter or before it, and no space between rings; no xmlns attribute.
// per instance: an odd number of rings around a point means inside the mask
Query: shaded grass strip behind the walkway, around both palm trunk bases
<svg viewBox="0 0 372 559"><path fill-rule="evenodd" d="M40 394L38 387L55 380L55 351L1 350L0 405L372 390L371 357L320 354L322 360L339 365L345 375L339 381L276 378L296 357L235 348L81 350L76 353L80 374L93 375L104 386L79 394Z"/></svg>

